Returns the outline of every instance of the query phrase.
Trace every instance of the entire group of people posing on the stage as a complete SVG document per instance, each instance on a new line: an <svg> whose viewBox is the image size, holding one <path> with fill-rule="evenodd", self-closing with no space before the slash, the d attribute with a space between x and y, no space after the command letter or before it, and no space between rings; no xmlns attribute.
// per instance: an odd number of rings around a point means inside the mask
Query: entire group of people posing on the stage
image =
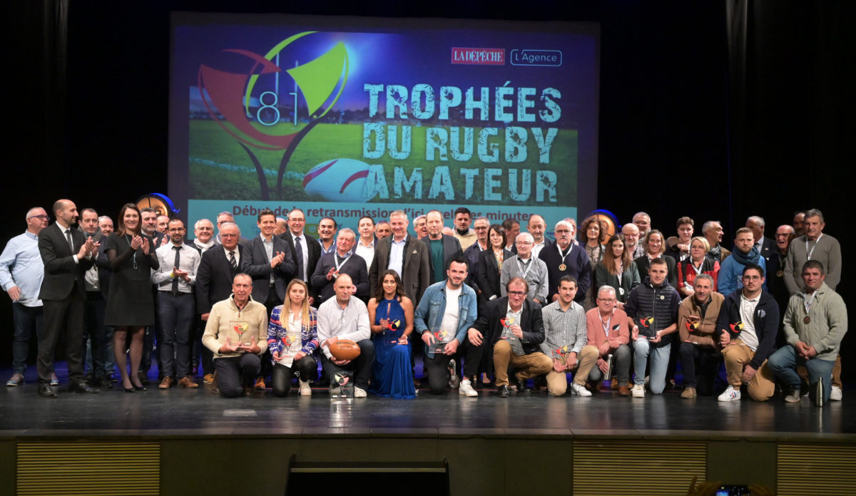
<svg viewBox="0 0 856 496"><path fill-rule="evenodd" d="M35 332L45 397L56 398L60 338L78 393L112 387L115 369L125 392L146 390L156 339L159 389L199 387L201 375L226 397L265 390L270 378L277 397L295 381L300 395L353 381L357 398L412 399L417 357L431 393L468 397L491 383L500 398L533 387L591 396L609 379L618 395L642 398L678 387L677 363L686 399L745 391L764 401L776 385L790 402L842 395L841 248L819 210L797 213L775 240L751 216L731 251L718 221L693 236L695 222L681 217L667 238L644 212L616 233L586 218L579 241L572 218L551 226L551 240L537 214L521 232L514 218L491 224L466 208L454 227L431 210L413 233L402 210L362 217L356 232L325 217L318 239L298 209L261 210L252 239L223 212L216 235L210 220L195 221L192 241L180 219L134 204L115 230L70 200L51 214L49 226L45 210L29 210L27 232L0 256L15 317L7 385L24 383ZM339 340L360 354L337 358Z"/></svg>

